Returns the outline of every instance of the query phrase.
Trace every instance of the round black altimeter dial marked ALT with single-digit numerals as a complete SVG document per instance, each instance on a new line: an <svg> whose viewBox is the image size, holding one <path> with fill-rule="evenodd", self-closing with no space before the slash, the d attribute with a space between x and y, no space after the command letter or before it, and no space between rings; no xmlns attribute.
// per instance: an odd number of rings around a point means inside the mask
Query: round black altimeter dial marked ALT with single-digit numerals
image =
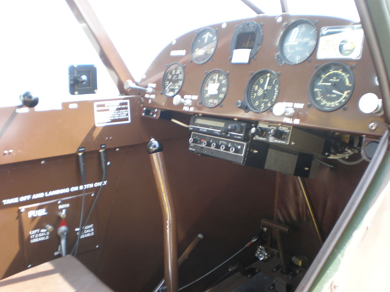
<svg viewBox="0 0 390 292"><path fill-rule="evenodd" d="M245 101L251 111L263 113L273 106L278 98L280 81L277 74L269 69L257 71L245 88Z"/></svg>

